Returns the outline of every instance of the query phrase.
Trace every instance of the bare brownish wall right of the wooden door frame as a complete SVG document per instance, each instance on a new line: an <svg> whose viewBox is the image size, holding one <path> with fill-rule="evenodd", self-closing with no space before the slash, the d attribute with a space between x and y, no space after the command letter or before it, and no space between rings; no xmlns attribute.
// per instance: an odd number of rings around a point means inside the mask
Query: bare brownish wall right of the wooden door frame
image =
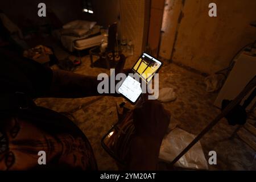
<svg viewBox="0 0 256 182"><path fill-rule="evenodd" d="M217 17L208 16L210 2L217 4ZM256 1L251 0L185 0L172 60L205 73L227 67L240 48L256 39L256 28L249 25L255 20L255 7Z"/></svg>

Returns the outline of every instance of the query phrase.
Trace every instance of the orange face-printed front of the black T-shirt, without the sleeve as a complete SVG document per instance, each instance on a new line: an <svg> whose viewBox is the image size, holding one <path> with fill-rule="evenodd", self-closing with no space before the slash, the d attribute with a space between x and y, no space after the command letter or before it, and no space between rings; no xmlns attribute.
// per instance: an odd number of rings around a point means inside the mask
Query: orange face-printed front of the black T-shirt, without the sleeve
<svg viewBox="0 0 256 182"><path fill-rule="evenodd" d="M48 117L34 118L30 111L19 117L2 119L0 170L83 169L96 170L97 164L88 139L64 116L54 123L54 112L38 108ZM31 110L32 111L32 110ZM61 118L63 117L63 118ZM51 119L54 118L54 119ZM49 123L49 122L52 122ZM67 123L68 122L68 123ZM70 130L68 130L68 128ZM46 164L40 165L39 151L46 152Z"/></svg>

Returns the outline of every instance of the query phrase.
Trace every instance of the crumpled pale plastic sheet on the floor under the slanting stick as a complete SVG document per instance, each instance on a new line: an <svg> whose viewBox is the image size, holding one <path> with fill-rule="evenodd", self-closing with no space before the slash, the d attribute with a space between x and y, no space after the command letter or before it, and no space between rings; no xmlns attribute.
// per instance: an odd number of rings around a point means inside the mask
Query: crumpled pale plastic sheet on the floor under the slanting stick
<svg viewBox="0 0 256 182"><path fill-rule="evenodd" d="M176 127L163 139L159 158L172 162L194 138L195 135ZM208 162L205 159L201 143L197 142L174 166L190 169L208 169Z"/></svg>

